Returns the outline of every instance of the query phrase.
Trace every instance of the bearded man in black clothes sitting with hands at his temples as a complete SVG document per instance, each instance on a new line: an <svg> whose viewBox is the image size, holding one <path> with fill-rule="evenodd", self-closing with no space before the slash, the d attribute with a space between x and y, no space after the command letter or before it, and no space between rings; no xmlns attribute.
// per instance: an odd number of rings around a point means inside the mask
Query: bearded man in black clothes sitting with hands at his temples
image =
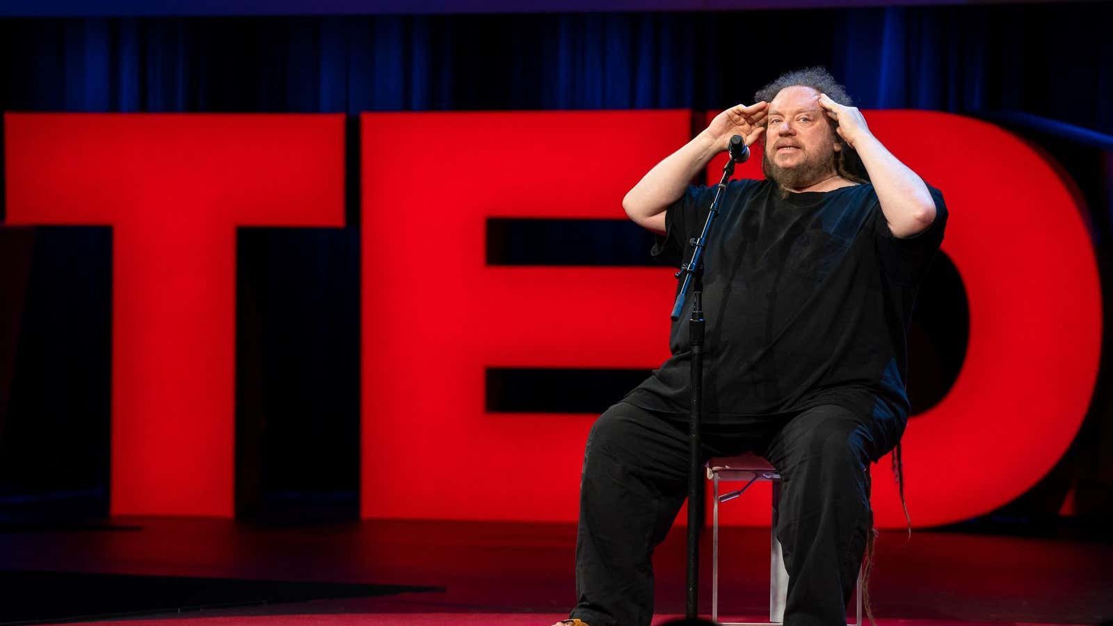
<svg viewBox="0 0 1113 626"><path fill-rule="evenodd" d="M871 538L868 467L907 422L907 327L947 213L826 70L789 72L756 99L719 114L622 205L661 235L654 255L686 261L715 195L689 180L732 135L764 134L766 179L732 182L708 237L701 453L756 451L778 469L785 624L845 625ZM592 427L578 604L561 624L650 623L651 555L687 492L691 300L672 358Z"/></svg>

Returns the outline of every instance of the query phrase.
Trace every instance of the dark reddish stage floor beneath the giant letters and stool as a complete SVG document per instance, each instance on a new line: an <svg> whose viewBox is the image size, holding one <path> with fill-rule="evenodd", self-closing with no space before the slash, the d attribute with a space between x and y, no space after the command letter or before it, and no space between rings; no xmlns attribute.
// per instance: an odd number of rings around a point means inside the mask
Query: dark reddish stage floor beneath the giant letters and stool
<svg viewBox="0 0 1113 626"><path fill-rule="evenodd" d="M548 626L573 601L574 534L569 525L269 528L166 518L24 529L0 534L0 623L141 616L216 625L273 616L276 624ZM709 547L709 534L706 539ZM760 617L768 603L768 530L727 529L722 542L730 559L723 614ZM682 613L682 529L656 563L658 613ZM875 614L883 625L1097 624L1113 618L1111 563L1113 546L1105 542L883 532ZM710 556L703 565L701 599L709 606ZM260 619L253 623L268 623Z"/></svg>

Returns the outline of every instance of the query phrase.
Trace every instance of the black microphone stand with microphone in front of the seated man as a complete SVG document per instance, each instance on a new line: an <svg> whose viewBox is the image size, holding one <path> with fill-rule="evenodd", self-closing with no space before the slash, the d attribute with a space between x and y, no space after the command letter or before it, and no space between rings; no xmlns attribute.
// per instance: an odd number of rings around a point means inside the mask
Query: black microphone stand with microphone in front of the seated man
<svg viewBox="0 0 1113 626"><path fill-rule="evenodd" d="M736 135L739 140L740 136ZM736 140L731 137L731 144ZM749 156L748 150L746 157ZM746 160L740 157L739 160ZM691 417L688 426L688 444L690 450L688 468L688 588L684 608L684 617L695 619L699 614L699 525L700 508L702 502L702 472L700 471L700 438L699 424L703 418L703 248L707 246L707 234L719 214L719 202L722 199L722 192L727 188L727 182L735 174L735 150L731 149L727 165L722 167L722 178L715 190L715 200L711 203L711 211L707 214L707 222L703 223L703 231L698 239L690 239L693 245L692 256L688 263L680 265L680 271L676 277L681 281L680 292L672 305L672 320L679 320L688 299L688 292L692 293L692 313L688 321L688 334L691 340Z"/></svg>

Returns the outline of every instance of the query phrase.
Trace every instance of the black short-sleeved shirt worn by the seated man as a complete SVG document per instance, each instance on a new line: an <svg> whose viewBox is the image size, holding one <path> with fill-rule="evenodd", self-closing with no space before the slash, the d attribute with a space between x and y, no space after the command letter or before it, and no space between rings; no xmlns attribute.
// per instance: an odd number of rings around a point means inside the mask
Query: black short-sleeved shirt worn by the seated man
<svg viewBox="0 0 1113 626"><path fill-rule="evenodd" d="M947 222L943 195L928 189L935 222L898 238L869 184L786 195L769 180L730 183L705 256L707 423L839 404L887 421L895 444L908 418L913 302ZM713 197L715 187L691 187L673 203L654 256L687 261ZM627 402L688 414L691 303L672 323L672 358Z"/></svg>

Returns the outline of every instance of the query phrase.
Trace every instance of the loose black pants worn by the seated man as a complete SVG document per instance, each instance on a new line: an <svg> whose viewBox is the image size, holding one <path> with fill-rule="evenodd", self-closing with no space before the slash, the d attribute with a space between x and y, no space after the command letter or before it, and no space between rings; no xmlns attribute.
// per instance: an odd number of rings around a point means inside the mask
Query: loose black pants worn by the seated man
<svg viewBox="0 0 1113 626"><path fill-rule="evenodd" d="M788 570L786 626L845 626L873 528L869 461L895 444L825 404L747 426L701 429L703 460L754 451L781 475L776 532ZM620 402L591 429L580 485L577 606L590 626L649 626L651 556L688 491L688 424Z"/></svg>

